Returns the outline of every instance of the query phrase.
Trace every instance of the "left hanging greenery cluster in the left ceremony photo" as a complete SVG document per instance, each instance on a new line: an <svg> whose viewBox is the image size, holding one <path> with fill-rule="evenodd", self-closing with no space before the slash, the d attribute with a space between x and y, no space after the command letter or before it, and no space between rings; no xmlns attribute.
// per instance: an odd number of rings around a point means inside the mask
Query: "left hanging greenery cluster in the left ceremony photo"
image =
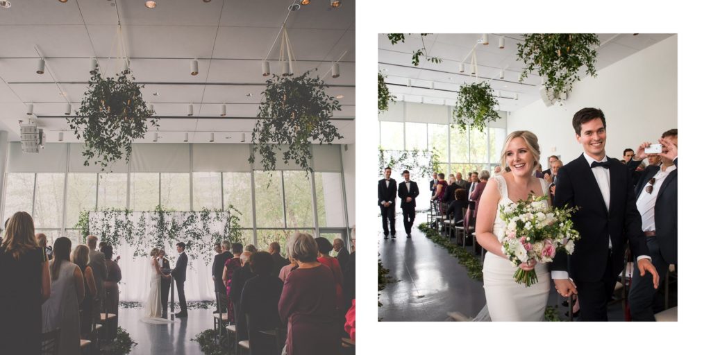
<svg viewBox="0 0 711 355"><path fill-rule="evenodd" d="M134 82L131 70L122 71L116 78L102 77L92 70L89 88L75 116L67 118L70 129L85 144L84 165L90 161L104 171L110 164L131 157L131 144L144 138L148 125L159 126L154 111L146 107L141 88Z"/></svg>

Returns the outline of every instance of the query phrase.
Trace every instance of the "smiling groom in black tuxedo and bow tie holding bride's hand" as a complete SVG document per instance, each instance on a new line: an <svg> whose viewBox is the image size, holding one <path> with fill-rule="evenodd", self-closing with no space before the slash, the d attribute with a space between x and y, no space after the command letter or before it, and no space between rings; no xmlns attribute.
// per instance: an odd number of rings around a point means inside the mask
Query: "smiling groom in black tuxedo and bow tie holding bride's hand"
<svg viewBox="0 0 711 355"><path fill-rule="evenodd" d="M586 108L573 116L573 128L584 153L558 171L556 207L579 207L572 215L580 239L572 256L557 253L551 264L555 288L563 297L579 295L581 319L607 320L617 275L624 267L627 241L641 275L659 276L651 263L641 217L627 167L605 155L605 116Z"/></svg>

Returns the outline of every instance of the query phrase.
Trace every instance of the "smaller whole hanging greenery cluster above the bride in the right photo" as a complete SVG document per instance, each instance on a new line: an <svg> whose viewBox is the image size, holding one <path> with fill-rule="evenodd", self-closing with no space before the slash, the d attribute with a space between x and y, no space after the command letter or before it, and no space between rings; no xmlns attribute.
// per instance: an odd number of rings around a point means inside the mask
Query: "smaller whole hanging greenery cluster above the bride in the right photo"
<svg viewBox="0 0 711 355"><path fill-rule="evenodd" d="M488 122L501 119L498 111L494 109L497 106L498 99L493 96L488 82L462 85L456 97L452 125L459 126L461 131L466 131L469 126L483 132Z"/></svg>

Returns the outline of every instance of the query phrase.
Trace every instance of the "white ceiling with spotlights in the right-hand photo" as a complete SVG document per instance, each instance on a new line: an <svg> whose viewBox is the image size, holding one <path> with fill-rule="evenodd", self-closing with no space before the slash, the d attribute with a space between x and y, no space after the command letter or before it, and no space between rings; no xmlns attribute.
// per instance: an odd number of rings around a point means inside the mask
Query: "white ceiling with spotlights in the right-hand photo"
<svg viewBox="0 0 711 355"><path fill-rule="evenodd" d="M520 34L489 33L488 45L477 45L483 33L444 33L405 35L404 43L392 45L385 33L378 35L378 68L386 75L385 82L397 100L423 102L425 104L446 104L454 106L461 84L476 82L469 75L471 50L476 45L476 63L479 80L490 80L491 88L501 96L498 99L501 111L516 111L540 99L541 79L538 75L528 75L518 82L523 70L523 62L517 61L516 43L523 43ZM596 70L602 70L614 62L647 48L671 34L638 35L598 33L601 46L597 48ZM498 48L503 36L504 48ZM427 54L442 58L442 62L432 63L420 58L419 66L412 65L412 52L424 47ZM464 62L464 73L459 73L459 64ZM504 78L500 79L501 70ZM410 86L408 86L410 80ZM434 89L432 85L434 83ZM515 99L518 97L518 99Z"/></svg>

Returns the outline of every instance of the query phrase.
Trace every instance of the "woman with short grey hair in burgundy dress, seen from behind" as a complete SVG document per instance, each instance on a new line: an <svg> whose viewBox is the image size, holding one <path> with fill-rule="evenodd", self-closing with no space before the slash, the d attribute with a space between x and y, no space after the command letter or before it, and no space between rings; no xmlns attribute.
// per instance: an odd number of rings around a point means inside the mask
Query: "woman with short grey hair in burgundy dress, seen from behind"
<svg viewBox="0 0 711 355"><path fill-rule="evenodd" d="M279 317L287 327L287 354L333 355L341 347L341 320L336 316L336 281L333 272L316 258L314 238L296 232L287 250L299 268L289 274L279 299Z"/></svg>

